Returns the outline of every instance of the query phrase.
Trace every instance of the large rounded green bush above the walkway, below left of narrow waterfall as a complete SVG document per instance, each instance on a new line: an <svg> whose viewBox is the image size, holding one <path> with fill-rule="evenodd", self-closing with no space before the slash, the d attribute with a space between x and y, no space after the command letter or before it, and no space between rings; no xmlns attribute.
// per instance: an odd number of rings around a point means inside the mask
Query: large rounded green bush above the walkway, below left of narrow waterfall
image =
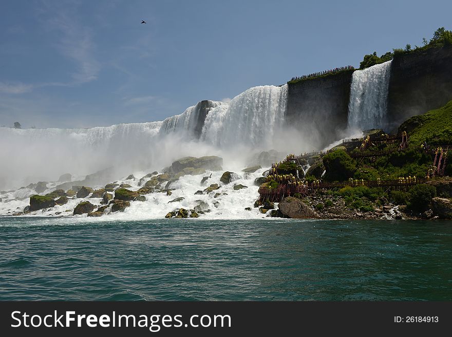
<svg viewBox="0 0 452 337"><path fill-rule="evenodd" d="M346 181L356 171L355 161L343 150L335 150L323 157L326 181Z"/></svg>

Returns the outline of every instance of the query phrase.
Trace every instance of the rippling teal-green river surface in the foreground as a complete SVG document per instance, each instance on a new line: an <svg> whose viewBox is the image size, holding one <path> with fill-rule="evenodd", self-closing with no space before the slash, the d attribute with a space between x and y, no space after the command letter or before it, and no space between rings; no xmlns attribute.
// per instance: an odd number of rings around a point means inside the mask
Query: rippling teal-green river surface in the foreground
<svg viewBox="0 0 452 337"><path fill-rule="evenodd" d="M0 300L452 299L440 221L0 217Z"/></svg>

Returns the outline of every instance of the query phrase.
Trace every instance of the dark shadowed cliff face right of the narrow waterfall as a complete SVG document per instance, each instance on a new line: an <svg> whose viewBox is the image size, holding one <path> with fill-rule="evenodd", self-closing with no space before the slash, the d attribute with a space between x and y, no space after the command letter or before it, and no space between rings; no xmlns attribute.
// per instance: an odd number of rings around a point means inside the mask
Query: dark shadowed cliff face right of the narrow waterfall
<svg viewBox="0 0 452 337"><path fill-rule="evenodd" d="M396 55L392 61L388 118L397 127L407 118L452 100L452 46Z"/></svg>

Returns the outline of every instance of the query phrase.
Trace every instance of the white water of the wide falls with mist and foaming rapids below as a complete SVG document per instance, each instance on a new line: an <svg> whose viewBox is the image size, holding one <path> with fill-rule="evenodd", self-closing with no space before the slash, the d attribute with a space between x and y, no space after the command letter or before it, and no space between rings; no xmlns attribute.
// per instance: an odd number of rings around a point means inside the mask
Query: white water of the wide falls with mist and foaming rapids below
<svg viewBox="0 0 452 337"><path fill-rule="evenodd" d="M83 180L85 174L113 166L123 168L122 173L115 178L117 183L129 184L132 186L130 189L137 190L143 186L143 183L139 183L143 175L154 170L162 172L164 166L171 165L177 158L219 155L223 157L222 171L182 176L169 186L175 188L171 196L165 193L147 194L146 202L134 202L124 212L92 221L161 218L180 207L191 209L200 201L208 204L211 210L202 216L206 219L265 217L265 214L253 208L253 204L258 197L254 180L261 177L266 168L254 173L244 173L241 169L258 147L271 148L272 135L284 121L287 85L251 88L233 98L230 104L211 101L209 106L210 111L199 141L194 139L193 131L198 123L200 104L161 122L89 129L0 128L0 142L8 144L0 148L0 156L7 159L0 162L0 175L3 177L0 185L3 184L3 188L16 188L47 181L47 190L40 193L43 195L58 186L55 180L62 173L72 173L72 181ZM239 147L246 147L248 151L236 151ZM237 156L241 157L240 160L237 160ZM219 179L223 171L227 170L236 172L236 181L225 185ZM137 179L126 180L126 175L130 173ZM202 177L211 173L211 179L201 185ZM215 191L221 193L220 196L213 198L212 195L195 194L215 183L220 186ZM248 188L234 190L235 184ZM166 182L161 188L164 185ZM90 187L96 189L103 185L93 184ZM32 194L36 194L32 187L0 191L0 215L11 215L23 210L29 204L28 196ZM168 203L177 197L183 197L184 200ZM101 201L91 198L84 200L93 204L100 204ZM68 210L73 210L81 201L69 199L65 205L30 215L71 215L72 211ZM246 207L252 210L245 210ZM82 219L87 218L83 216Z"/></svg>

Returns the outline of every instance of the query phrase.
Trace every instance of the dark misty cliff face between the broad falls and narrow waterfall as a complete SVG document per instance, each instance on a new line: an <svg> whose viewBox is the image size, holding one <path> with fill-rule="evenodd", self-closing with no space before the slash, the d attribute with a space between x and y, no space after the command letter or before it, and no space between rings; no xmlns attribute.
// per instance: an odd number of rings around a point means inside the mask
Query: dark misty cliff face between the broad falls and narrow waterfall
<svg viewBox="0 0 452 337"><path fill-rule="evenodd" d="M352 71L289 84L286 124L319 148L343 136L347 127Z"/></svg>

